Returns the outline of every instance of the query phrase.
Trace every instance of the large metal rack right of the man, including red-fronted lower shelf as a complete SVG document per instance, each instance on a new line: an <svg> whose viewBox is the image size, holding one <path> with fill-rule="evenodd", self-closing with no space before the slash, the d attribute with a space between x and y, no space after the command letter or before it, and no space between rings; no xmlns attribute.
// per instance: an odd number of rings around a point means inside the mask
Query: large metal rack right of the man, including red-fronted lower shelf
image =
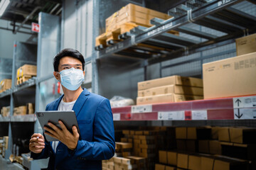
<svg viewBox="0 0 256 170"><path fill-rule="evenodd" d="M98 67L95 72L94 79L92 80L92 85L95 91L99 91L99 77L100 77L100 64L108 63L119 65L119 67L124 67L124 72L127 68L144 68L144 80L146 80L146 68L149 65L161 63L167 60L172 60L174 58L183 57L187 55L194 54L196 52L203 52L205 50L210 50L215 47L220 47L223 45L228 45L235 42L235 38L240 38L249 33L256 33L256 17L252 16L245 11L240 11L233 6L239 4L240 0L230 0L230 1L199 1L190 0L186 3L179 4L176 8L171 8L169 10L169 15L174 16L169 20L161 20L159 18L154 18L151 20L151 24L154 25L151 28L145 28L138 26L130 30L127 33L119 35L120 42L114 42L112 40L107 42L108 47L103 47L102 45L95 47L94 58L96 61L95 67ZM246 3L255 6L255 1L246 1ZM216 30L220 35L213 35L193 28L188 28L187 24L196 24L198 26L204 26L212 30ZM171 35L166 33L169 30L177 30L180 33L185 33L186 35L198 38L198 40L193 40L191 38L181 37L177 35ZM159 48L145 47L144 45L154 45ZM234 50L228 50L226 52L216 52L215 55L203 56L202 59L208 59L218 55L223 55L225 53L235 52ZM197 61L198 59L188 59L180 63L188 63ZM176 64L168 64L161 69L166 67L172 67ZM122 69L120 69L122 70ZM233 98L229 99L230 104ZM196 102L206 102L206 101L191 101L191 103ZM212 101L208 101L212 102ZM187 102L185 102L187 103ZM189 102L188 102L189 103ZM188 104L187 103L187 104ZM166 103L166 105L173 106L176 108L181 103ZM221 105L221 103L219 103ZM156 105L151 105L156 106ZM208 119L208 120L159 120L159 112L149 112L149 113L131 113L132 107L140 106L128 106L122 109L128 109L127 113L120 113L119 108L112 108L114 114L114 124L115 125L176 125L176 126L198 126L198 125L244 125L255 127L255 120L234 120L234 108L228 108L228 111L221 108L218 110L220 112L220 118ZM146 106L145 106L146 107ZM159 107L166 107L165 105L159 105ZM208 105L206 105L206 108ZM205 108L205 109L206 109ZM254 108L254 107L253 107ZM253 109L252 108L252 109ZM181 109L186 112L186 109ZM191 113L191 109L189 112ZM228 117L225 117L224 112L227 111ZM210 112L210 109L209 111ZM216 112L213 110L212 112ZM212 113L214 114L214 113ZM224 114L224 115L223 115ZM224 116L224 117L223 117ZM144 121L146 120L146 121Z"/></svg>

